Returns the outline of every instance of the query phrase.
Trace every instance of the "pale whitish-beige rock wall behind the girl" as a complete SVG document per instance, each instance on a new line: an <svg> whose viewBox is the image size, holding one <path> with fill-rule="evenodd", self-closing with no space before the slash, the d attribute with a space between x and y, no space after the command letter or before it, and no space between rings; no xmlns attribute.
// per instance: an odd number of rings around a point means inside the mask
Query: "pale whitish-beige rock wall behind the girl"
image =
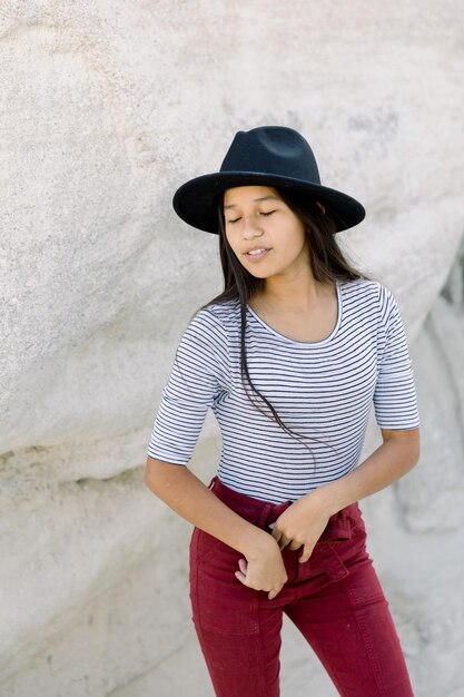
<svg viewBox="0 0 464 697"><path fill-rule="evenodd" d="M462 0L3 1L1 695L211 695L190 529L142 470L176 343L220 286L217 240L171 194L260 124L300 129L323 183L366 205L340 237L395 292L422 416L419 465L364 502L371 549L416 694L464 695L463 18ZM205 480L218 451L208 419ZM289 626L282 673L287 697L335 694Z"/></svg>

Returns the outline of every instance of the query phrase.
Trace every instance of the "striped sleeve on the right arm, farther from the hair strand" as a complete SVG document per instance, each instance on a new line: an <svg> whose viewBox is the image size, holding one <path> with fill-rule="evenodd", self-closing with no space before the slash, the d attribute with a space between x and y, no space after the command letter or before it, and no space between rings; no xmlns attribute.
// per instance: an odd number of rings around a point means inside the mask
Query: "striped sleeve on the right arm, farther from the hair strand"
<svg viewBox="0 0 464 697"><path fill-rule="evenodd" d="M419 415L413 362L393 293L379 284L378 374L374 392L377 424L383 429L417 429Z"/></svg>

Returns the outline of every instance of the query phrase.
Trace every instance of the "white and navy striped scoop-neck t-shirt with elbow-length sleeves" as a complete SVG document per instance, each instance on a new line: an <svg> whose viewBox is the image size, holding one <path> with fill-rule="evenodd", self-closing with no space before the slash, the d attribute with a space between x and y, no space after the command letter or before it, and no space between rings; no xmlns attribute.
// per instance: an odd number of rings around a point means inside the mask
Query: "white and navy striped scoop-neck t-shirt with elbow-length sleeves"
<svg viewBox="0 0 464 697"><path fill-rule="evenodd" d="M347 474L358 463L369 411L385 429L419 425L413 365L392 292L377 281L337 281L329 336L300 342L247 312L248 370L286 433L240 380L238 300L200 310L189 323L162 392L148 454L187 464L209 408L223 451L217 474L230 489L279 503Z"/></svg>

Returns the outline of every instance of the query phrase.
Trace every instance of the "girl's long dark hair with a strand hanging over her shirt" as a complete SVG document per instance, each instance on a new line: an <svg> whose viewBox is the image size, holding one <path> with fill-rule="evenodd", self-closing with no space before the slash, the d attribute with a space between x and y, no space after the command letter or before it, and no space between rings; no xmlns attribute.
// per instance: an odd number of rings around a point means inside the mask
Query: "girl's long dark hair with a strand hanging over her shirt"
<svg viewBox="0 0 464 697"><path fill-rule="evenodd" d="M323 283L336 282L337 279L355 281L356 278L371 281L368 276L349 264L337 243L335 235L338 229L337 223L343 225L343 220L337 218L330 210L320 208L316 200L308 200L307 197L299 192L284 188L275 190L282 200L298 216L306 228L309 238L310 267L316 281ZM274 419L286 433L303 442L305 436L289 429L282 421L269 400L255 387L249 375L245 344L247 305L253 295L263 291L264 279L253 276L240 264L233 252L226 236L223 206L224 196L218 200L219 253L224 274L224 291L204 305L201 310L209 305L226 303L231 300L239 301L241 318L240 375L245 394L258 411ZM315 436L312 438L318 440Z"/></svg>

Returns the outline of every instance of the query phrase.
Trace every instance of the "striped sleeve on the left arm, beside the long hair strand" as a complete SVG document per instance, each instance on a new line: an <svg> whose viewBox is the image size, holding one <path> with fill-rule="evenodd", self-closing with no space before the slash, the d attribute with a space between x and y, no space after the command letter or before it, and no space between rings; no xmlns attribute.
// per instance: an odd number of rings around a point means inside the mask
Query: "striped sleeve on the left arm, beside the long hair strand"
<svg viewBox="0 0 464 697"><path fill-rule="evenodd" d="M151 458L187 464L207 411L227 392L228 342L221 322L200 310L185 331L162 391L148 445Z"/></svg>

